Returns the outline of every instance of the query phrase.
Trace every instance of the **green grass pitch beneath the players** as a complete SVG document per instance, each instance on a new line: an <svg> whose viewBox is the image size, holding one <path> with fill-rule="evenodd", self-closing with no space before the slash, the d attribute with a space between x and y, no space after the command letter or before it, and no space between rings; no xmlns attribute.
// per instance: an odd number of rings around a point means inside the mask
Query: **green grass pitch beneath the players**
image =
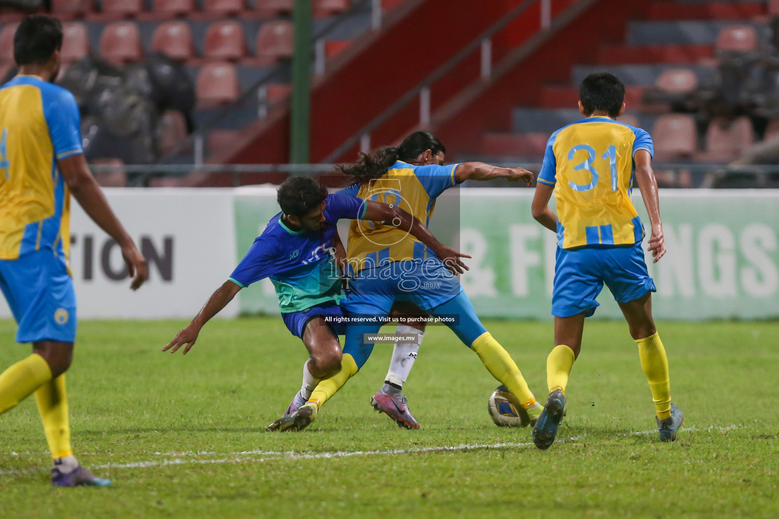
<svg viewBox="0 0 779 519"><path fill-rule="evenodd" d="M111 489L51 489L29 398L0 417L0 517L777 517L776 323L661 323L685 412L660 444L626 324L591 321L568 416L549 451L495 427L496 382L431 328L400 430L369 407L390 347L302 433L264 433L300 384L305 350L278 318L213 321L192 352L160 349L182 321L83 321L68 374L81 463ZM539 399L551 324L488 322ZM0 367L22 358L0 321Z"/></svg>

